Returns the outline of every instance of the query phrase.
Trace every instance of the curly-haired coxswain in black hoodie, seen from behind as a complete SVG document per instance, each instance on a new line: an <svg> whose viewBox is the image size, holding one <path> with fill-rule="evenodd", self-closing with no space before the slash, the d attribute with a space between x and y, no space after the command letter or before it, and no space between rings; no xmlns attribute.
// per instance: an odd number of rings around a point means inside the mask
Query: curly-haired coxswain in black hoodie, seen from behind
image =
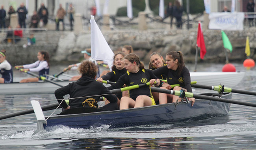
<svg viewBox="0 0 256 150"><path fill-rule="evenodd" d="M117 110L117 96L111 92L100 82L96 81L98 67L95 63L85 60L78 67L79 73L82 75L76 82L69 83L64 87L55 90L56 99L63 99L63 96L69 94L69 105L65 101L58 100L61 106L67 110L76 107L94 107L98 108L97 102L101 96L104 96L110 102L108 105L100 107L104 110ZM74 99L73 99L74 98Z"/></svg>

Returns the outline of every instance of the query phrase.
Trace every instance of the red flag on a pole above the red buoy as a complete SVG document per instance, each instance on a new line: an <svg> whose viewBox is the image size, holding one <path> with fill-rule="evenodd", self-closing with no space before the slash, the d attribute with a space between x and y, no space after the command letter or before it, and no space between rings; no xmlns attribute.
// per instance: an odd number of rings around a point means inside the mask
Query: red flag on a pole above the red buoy
<svg viewBox="0 0 256 150"><path fill-rule="evenodd" d="M206 48L204 44L204 35L202 32L200 22L198 22L198 29L197 29L197 46L200 47L200 58L203 60L204 55L206 54Z"/></svg>

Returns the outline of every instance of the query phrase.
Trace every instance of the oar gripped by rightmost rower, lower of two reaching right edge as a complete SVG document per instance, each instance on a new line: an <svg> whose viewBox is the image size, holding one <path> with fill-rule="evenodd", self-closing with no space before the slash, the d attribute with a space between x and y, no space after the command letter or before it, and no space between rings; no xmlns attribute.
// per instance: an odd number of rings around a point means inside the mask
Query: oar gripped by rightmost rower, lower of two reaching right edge
<svg viewBox="0 0 256 150"><path fill-rule="evenodd" d="M160 92L160 93L173 94L173 95L176 95L176 96L180 96L180 91L179 90L166 90L166 89L159 89L159 88L155 88L155 87L151 87L151 90L152 90L152 92ZM207 100L211 100L211 101L220 101L220 102L224 102L224 103L231 103L231 104L238 104L238 105L256 107L256 103L236 101L236 100L226 99L226 98L216 98L216 97L212 97L212 96L193 94L191 92L185 92L185 97L187 97L187 98L201 98L201 99L207 99Z"/></svg>

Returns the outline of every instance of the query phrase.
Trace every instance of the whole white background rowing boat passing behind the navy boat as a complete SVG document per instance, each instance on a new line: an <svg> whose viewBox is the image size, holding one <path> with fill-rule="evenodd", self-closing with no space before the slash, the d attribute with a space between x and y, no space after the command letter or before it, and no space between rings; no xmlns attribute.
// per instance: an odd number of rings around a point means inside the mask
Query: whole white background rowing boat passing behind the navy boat
<svg viewBox="0 0 256 150"><path fill-rule="evenodd" d="M234 87L245 76L245 72L190 72L191 81L202 85L224 85ZM55 81L65 86L73 81ZM0 94L53 93L59 86L49 82L9 83L0 86Z"/></svg>

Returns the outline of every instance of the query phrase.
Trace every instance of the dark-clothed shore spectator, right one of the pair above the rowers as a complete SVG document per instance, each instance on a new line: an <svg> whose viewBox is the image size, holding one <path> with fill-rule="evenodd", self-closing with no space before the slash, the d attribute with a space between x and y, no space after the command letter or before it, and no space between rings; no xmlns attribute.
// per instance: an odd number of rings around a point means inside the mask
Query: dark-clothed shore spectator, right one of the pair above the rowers
<svg viewBox="0 0 256 150"><path fill-rule="evenodd" d="M176 18L176 27L177 29L182 29L182 12L183 7L180 5L180 2L176 0L173 7L173 16Z"/></svg>

